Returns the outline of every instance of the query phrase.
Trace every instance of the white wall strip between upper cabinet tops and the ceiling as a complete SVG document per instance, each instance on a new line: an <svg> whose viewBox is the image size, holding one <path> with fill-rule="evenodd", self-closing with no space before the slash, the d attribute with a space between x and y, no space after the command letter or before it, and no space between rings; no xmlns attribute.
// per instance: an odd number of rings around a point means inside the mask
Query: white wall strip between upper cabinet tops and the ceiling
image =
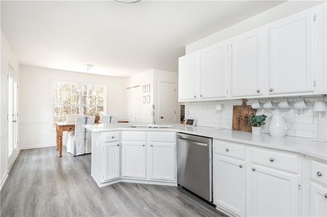
<svg viewBox="0 0 327 217"><path fill-rule="evenodd" d="M185 47L185 54L200 50L209 45L216 44L233 36L237 36L262 25L268 24L269 22L273 22L291 14L311 8L315 5L321 4L322 2L324 1L288 1L258 15L243 20L235 25L231 25L220 32L214 33L197 42L187 45Z"/></svg>

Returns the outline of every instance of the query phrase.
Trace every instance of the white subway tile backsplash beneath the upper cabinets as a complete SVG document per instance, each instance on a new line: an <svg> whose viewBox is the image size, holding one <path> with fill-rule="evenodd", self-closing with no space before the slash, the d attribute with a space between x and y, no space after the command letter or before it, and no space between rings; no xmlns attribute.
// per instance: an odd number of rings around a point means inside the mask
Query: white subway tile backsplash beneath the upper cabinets
<svg viewBox="0 0 327 217"><path fill-rule="evenodd" d="M276 103L279 102L281 98L275 98L272 100ZM260 101L265 101L266 99L261 99ZM290 98L294 101L295 98ZM318 121L319 113L312 110L314 101L323 101L323 97L306 97L309 102L308 109L303 110L303 117L295 117L289 124L287 135L305 138L318 138ZM325 98L325 101L327 99ZM247 105L250 105L253 99L247 101ZM216 105L223 104L223 111L216 111ZM212 102L185 102L185 118L195 118L197 120L197 125L207 126L207 127L218 127L218 118L221 121L221 126L227 129L231 129L232 125L232 110L233 105L241 105L242 100L229 100L229 101L212 101ZM271 114L269 111L278 112L290 112L295 116L295 110L257 110L256 114L264 114L268 116L266 119L266 125L262 128L263 133L269 133L268 126L270 122ZM286 121L288 116L285 117ZM323 138L326 138L327 131L327 115L324 112L322 114L321 122L323 129Z"/></svg>

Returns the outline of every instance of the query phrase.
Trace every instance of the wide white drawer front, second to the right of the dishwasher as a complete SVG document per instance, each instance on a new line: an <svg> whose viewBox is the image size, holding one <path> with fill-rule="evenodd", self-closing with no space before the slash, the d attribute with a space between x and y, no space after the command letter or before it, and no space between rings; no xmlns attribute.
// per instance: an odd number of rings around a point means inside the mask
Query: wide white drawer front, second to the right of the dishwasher
<svg viewBox="0 0 327 217"><path fill-rule="evenodd" d="M298 156L296 154L252 148L251 157L254 164L298 173Z"/></svg>

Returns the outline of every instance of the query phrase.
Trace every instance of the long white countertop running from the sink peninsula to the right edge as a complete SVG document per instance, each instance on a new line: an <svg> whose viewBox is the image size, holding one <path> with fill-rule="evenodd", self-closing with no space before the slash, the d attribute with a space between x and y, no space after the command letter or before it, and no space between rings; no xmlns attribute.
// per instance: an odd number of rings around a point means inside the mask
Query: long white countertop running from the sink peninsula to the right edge
<svg viewBox="0 0 327 217"><path fill-rule="evenodd" d="M170 124L172 128L134 128L135 124L149 124L144 122L114 123L114 124L89 124L85 128L92 132L112 131L112 130L139 130L139 131L175 131L213 139L221 139L233 142L239 142L254 146L275 148L285 151L292 151L306 154L318 159L327 160L327 143L315 142L308 138L284 137L274 138L267 133L261 135L252 135L249 132L234 131L230 129L215 129L202 126L184 126L182 124Z"/></svg>

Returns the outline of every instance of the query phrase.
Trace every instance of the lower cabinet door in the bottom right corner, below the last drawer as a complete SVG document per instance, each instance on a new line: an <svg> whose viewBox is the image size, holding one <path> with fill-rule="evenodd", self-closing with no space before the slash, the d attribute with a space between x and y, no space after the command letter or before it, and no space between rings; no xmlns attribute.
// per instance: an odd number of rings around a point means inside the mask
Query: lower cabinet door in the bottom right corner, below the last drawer
<svg viewBox="0 0 327 217"><path fill-rule="evenodd" d="M327 187L311 181L310 216L327 216Z"/></svg>

